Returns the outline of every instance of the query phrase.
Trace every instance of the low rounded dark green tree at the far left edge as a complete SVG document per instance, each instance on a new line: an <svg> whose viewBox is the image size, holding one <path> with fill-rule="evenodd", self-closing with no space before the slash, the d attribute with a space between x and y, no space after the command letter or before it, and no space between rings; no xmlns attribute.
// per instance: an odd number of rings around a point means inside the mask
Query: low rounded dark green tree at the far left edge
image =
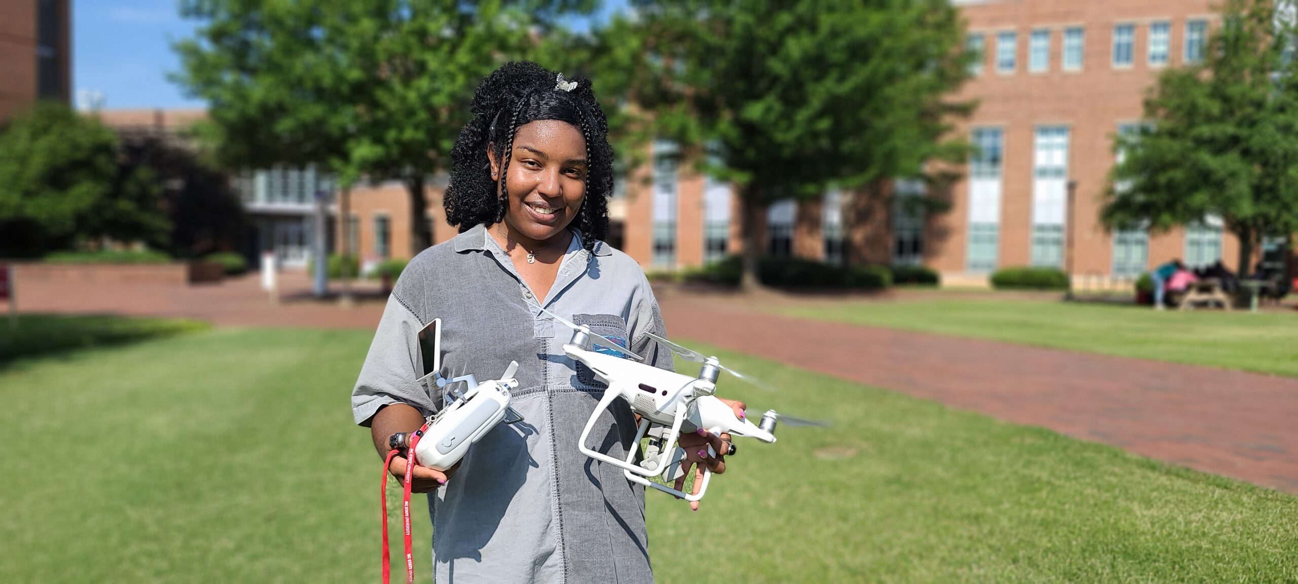
<svg viewBox="0 0 1298 584"><path fill-rule="evenodd" d="M40 103L0 132L0 253L34 257L104 237L161 245L169 222L151 167L119 165L117 136Z"/></svg>

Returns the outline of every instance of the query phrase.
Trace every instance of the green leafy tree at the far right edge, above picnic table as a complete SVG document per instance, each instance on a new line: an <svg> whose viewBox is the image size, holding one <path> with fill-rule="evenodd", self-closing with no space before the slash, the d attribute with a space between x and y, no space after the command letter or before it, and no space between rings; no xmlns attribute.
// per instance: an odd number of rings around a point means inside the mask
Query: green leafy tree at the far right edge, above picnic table
<svg viewBox="0 0 1298 584"><path fill-rule="evenodd" d="M1106 226L1166 231L1219 217L1240 239L1241 271L1260 236L1298 230L1298 64L1282 14L1293 13L1272 0L1231 0L1203 61L1159 75L1150 123L1118 136Z"/></svg>

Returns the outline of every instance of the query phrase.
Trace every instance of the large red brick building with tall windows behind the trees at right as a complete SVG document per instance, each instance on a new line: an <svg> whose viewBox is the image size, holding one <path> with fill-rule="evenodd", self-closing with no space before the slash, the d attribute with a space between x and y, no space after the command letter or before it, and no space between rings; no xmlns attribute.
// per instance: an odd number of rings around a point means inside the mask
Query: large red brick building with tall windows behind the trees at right
<svg viewBox="0 0 1298 584"><path fill-rule="evenodd" d="M1236 241L1220 221L1171 234L1107 234L1101 195L1115 162L1114 136L1141 122L1158 73L1199 58L1219 16L1208 0L966 0L967 47L981 55L958 97L979 100L958 127L980 153L949 197L949 212L905 205L923 184L900 180L861 197L771 206L766 253L853 262L924 263L948 283L983 284L1005 266L1066 267L1073 222L1073 274L1118 286L1172 257L1223 258ZM671 153L658 143L654 154ZM655 156L628 180L623 249L646 269L696 266L737 250L731 189ZM1068 184L1075 184L1068 208ZM888 204L887 201L892 201ZM844 205L854 208L844 208ZM851 221L845 221L850 217Z"/></svg>

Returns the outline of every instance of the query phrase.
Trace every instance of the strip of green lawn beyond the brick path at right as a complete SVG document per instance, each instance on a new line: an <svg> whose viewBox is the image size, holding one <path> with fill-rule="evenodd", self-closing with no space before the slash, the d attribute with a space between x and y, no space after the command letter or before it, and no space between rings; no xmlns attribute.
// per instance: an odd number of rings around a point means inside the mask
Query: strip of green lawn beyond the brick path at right
<svg viewBox="0 0 1298 584"><path fill-rule="evenodd" d="M1298 311L1182 313L993 298L841 302L779 310L800 318L1298 376Z"/></svg>

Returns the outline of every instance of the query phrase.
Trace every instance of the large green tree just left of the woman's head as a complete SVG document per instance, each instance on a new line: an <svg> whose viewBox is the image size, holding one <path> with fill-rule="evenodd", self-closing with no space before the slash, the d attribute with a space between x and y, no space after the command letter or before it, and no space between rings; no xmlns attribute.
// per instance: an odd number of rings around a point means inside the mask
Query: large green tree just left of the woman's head
<svg viewBox="0 0 1298 584"><path fill-rule="evenodd" d="M228 165L322 164L344 186L398 179L414 256L431 244L426 178L448 170L474 88L589 0L186 0L204 21L175 80L206 100Z"/></svg>

